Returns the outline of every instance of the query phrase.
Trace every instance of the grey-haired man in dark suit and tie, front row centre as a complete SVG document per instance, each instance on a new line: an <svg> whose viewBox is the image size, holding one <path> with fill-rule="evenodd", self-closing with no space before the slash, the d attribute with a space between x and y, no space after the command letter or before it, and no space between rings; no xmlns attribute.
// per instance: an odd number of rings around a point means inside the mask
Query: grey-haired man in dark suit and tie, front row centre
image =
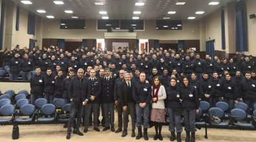
<svg viewBox="0 0 256 142"><path fill-rule="evenodd" d="M119 88L120 94L120 105L123 110L123 122L124 122L124 130L122 131L122 137L127 135L127 127L128 127L128 116L130 114L132 118L132 137L135 137L135 104L134 98L132 98L132 87L134 86L134 82L131 81L131 77L129 73L124 75L125 81L121 84L122 86Z"/></svg>

